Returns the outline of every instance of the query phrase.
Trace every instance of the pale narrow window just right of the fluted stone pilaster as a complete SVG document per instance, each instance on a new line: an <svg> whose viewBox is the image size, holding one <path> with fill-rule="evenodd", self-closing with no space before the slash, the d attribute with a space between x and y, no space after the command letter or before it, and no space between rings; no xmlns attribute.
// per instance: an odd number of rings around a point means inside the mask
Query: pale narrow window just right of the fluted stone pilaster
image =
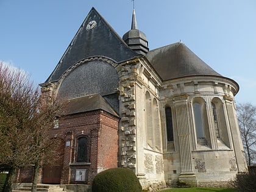
<svg viewBox="0 0 256 192"><path fill-rule="evenodd" d="M196 137L205 138L202 108L199 102L193 103L194 124L196 126Z"/></svg>

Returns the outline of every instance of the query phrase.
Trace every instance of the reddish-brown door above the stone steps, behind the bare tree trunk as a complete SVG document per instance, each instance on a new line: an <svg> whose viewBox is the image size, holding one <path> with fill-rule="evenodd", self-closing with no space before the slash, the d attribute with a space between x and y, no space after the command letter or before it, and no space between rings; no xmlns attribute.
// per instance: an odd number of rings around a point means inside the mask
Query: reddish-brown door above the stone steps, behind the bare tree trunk
<svg viewBox="0 0 256 192"><path fill-rule="evenodd" d="M62 176L62 166L44 166L43 168L43 183L60 184Z"/></svg>

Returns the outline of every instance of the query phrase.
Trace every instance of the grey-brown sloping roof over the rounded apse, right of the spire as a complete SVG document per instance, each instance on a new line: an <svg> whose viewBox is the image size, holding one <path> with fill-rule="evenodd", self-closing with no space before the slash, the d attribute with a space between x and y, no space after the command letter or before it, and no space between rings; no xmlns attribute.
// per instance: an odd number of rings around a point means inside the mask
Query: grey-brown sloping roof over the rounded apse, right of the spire
<svg viewBox="0 0 256 192"><path fill-rule="evenodd" d="M187 76L221 76L183 43L149 51L146 58L163 80Z"/></svg>

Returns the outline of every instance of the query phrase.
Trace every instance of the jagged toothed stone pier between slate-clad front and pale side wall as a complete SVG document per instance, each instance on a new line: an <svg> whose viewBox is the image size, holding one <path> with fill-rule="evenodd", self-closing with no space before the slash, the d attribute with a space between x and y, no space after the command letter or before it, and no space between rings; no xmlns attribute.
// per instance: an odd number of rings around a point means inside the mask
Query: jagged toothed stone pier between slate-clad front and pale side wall
<svg viewBox="0 0 256 192"><path fill-rule="evenodd" d="M136 123L135 123L135 76L136 62L117 66L120 101L120 147L121 166L132 168L136 165Z"/></svg>

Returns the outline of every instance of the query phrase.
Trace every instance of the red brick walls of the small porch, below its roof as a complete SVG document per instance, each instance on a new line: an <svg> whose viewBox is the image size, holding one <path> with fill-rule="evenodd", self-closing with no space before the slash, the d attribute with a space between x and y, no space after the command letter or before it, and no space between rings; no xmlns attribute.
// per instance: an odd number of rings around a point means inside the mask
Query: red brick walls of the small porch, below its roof
<svg viewBox="0 0 256 192"><path fill-rule="evenodd" d="M102 110L59 119L59 128L52 129L51 135L65 142L61 183L90 184L99 171L118 166L118 121ZM88 141L85 163L76 162L79 137ZM76 169L86 169L85 182L75 180Z"/></svg>

